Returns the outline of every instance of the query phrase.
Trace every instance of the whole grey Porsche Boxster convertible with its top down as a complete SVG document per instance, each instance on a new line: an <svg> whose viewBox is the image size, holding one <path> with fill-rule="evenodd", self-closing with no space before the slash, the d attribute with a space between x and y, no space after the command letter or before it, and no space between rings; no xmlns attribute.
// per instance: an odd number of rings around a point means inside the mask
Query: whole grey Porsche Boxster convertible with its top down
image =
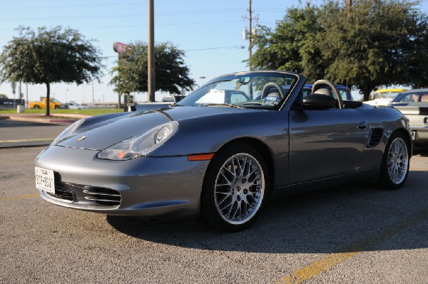
<svg viewBox="0 0 428 284"><path fill-rule="evenodd" d="M223 230L252 224L269 198L369 181L406 181L409 121L343 101L287 71L219 76L155 111L76 121L36 157L41 198L105 214L201 215Z"/></svg>

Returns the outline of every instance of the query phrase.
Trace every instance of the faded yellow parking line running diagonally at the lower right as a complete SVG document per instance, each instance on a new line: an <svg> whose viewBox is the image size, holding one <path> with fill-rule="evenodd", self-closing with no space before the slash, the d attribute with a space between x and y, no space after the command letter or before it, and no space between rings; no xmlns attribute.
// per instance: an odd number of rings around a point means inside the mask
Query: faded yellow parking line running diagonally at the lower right
<svg viewBox="0 0 428 284"><path fill-rule="evenodd" d="M309 280L321 273L329 270L330 268L345 262L346 260L352 258L352 256L362 253L362 251L370 249L373 245L379 243L386 238L399 233L400 231L412 227L415 223L420 220L428 217L428 209L419 211L414 215L411 215L409 218L402 220L394 225L391 225L387 228L384 228L379 233L366 238L365 240L356 243L355 245L350 245L350 247L345 248L344 253L331 253L321 260L317 260L310 265L305 266L295 272L287 275L278 283L302 283L305 280Z"/></svg>

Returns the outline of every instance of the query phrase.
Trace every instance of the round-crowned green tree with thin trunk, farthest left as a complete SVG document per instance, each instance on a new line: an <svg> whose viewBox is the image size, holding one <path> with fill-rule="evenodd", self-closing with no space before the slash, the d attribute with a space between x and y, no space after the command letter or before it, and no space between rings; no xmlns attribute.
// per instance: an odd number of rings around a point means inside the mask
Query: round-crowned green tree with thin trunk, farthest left
<svg viewBox="0 0 428 284"><path fill-rule="evenodd" d="M51 83L99 81L103 67L99 50L78 31L61 26L37 31L20 26L17 30L19 36L0 55L1 81L44 83L48 101Z"/></svg>

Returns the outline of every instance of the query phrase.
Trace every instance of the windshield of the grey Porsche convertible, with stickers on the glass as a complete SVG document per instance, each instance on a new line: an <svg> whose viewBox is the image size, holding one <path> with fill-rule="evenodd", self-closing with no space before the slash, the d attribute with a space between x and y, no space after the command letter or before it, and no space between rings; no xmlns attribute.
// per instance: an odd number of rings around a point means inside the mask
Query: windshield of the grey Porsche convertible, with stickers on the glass
<svg viewBox="0 0 428 284"><path fill-rule="evenodd" d="M220 76L190 93L178 105L278 109L297 78L296 75L281 72Z"/></svg>

